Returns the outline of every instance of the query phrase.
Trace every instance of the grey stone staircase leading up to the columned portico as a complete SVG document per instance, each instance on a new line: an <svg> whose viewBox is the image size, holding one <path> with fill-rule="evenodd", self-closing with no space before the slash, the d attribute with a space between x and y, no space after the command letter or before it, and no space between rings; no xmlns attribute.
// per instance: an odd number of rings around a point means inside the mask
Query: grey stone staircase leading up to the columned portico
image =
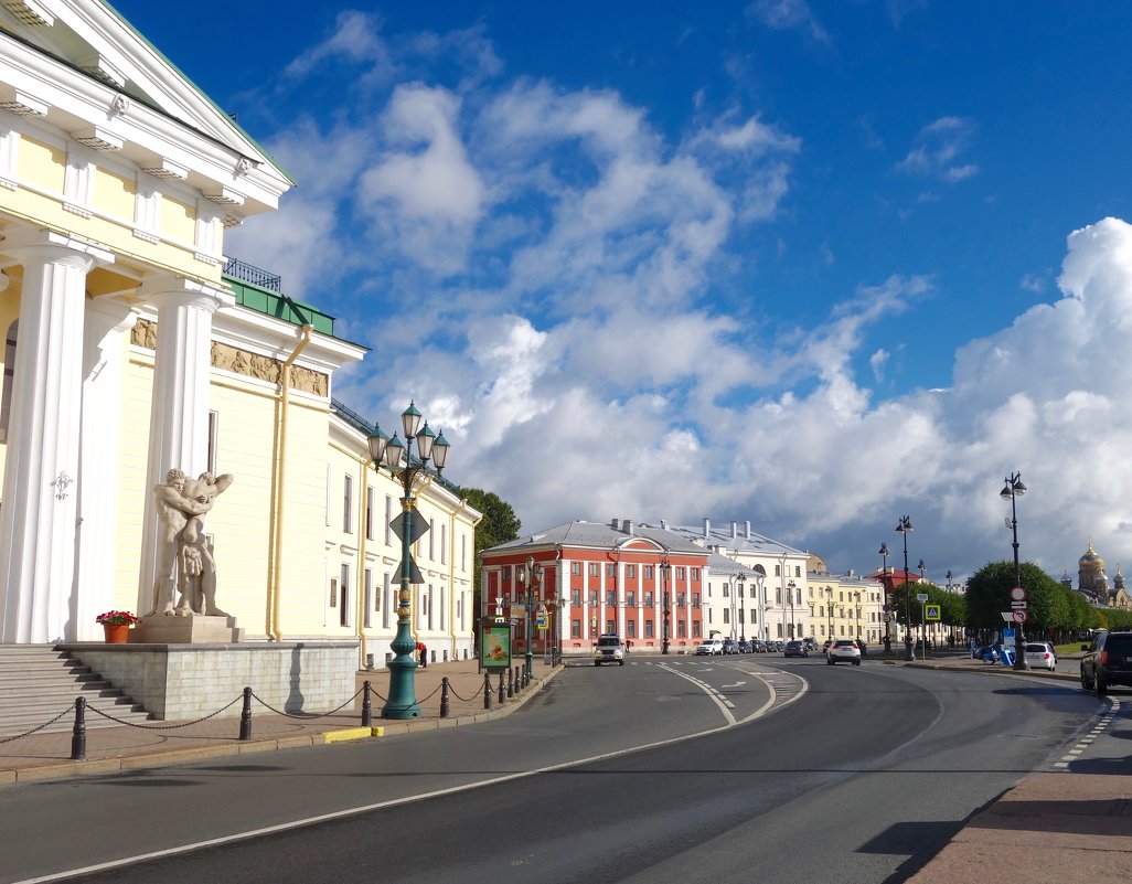
<svg viewBox="0 0 1132 884"><path fill-rule="evenodd" d="M75 700L131 723L149 719L145 710L89 667L51 645L0 645L0 739L25 733L69 710L40 733L70 731L75 727ZM87 728L114 727L117 722L87 710Z"/></svg>

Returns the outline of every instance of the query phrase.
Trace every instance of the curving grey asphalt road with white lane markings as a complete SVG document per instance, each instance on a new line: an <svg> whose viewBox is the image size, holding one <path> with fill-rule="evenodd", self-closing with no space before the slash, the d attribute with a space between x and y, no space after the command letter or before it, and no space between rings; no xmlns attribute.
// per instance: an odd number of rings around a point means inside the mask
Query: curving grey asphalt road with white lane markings
<svg viewBox="0 0 1132 884"><path fill-rule="evenodd" d="M899 882L1106 709L1009 676L634 655L484 724L0 790L0 881Z"/></svg>

